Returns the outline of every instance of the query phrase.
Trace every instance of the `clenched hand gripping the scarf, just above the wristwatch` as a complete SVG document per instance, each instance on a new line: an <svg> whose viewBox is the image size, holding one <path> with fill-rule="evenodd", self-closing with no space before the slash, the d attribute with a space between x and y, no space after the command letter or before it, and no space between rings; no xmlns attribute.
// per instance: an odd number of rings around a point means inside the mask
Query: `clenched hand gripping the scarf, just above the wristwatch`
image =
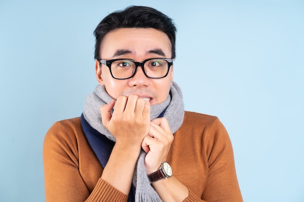
<svg viewBox="0 0 304 202"><path fill-rule="evenodd" d="M162 161L166 161L169 149L173 142L173 134L165 117L153 119L150 124L149 135L141 144L147 153L145 167L147 174L157 171Z"/></svg>

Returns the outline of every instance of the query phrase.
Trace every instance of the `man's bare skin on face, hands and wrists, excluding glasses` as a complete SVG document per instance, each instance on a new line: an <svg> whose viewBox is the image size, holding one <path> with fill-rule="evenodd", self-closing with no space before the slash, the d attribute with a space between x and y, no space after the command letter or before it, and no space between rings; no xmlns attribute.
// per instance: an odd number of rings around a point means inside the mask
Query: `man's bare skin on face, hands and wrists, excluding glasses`
<svg viewBox="0 0 304 202"><path fill-rule="evenodd" d="M142 62L149 58L170 58L171 44L168 36L152 28L122 28L111 31L101 43L101 58L133 59ZM173 66L165 78L147 78L138 67L133 78L112 78L109 68L95 63L96 78L104 85L113 100L101 107L102 124L116 138L115 146L101 178L124 194L129 194L135 164L141 148L147 153L147 174L157 171L166 161L173 141L166 118L150 121L151 105L164 102L173 81ZM150 98L145 100L144 98ZM113 115L113 109L116 100ZM115 173L115 174L113 174ZM188 189L174 176L152 183L162 201L183 201Z"/></svg>

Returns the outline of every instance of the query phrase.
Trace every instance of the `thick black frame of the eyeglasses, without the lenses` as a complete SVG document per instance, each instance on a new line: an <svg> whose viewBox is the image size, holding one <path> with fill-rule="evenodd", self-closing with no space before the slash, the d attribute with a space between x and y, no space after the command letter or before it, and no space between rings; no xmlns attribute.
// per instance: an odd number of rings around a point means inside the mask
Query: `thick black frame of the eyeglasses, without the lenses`
<svg viewBox="0 0 304 202"><path fill-rule="evenodd" d="M141 66L142 71L144 72L145 76L148 77L148 78L155 78L155 79L157 79L157 78L165 78L165 77L168 76L169 69L170 69L170 67L172 66L173 61L174 61L174 59L168 59L168 58L149 58L149 59L144 60L143 62L136 62L135 60L132 60L132 59L124 59L124 58L113 59L113 60L108 60L108 61L105 61L105 60L102 60L102 59L100 59L100 58L97 58L97 60L98 60L101 64L104 64L104 65L106 65L106 66L109 68L110 73L111 73L111 76L112 76L113 78L119 79L119 80L123 80L123 79L128 79L128 78L134 77L134 75L136 74L136 70L137 70L137 67L138 67L138 66ZM112 70L111 70L111 65L112 65L113 62L119 61L119 60L126 60L126 61L131 61L131 62L134 62L134 63L135 63L135 70L134 70L134 73L132 74L131 77L128 77L128 78L116 78L116 77L113 76ZM168 63L168 71L167 71L167 73L166 73L165 76L163 76L163 77L149 77L149 76L147 75L147 73L146 73L146 71L145 71L145 68L144 68L144 65L145 65L146 62L151 61L151 60L164 60L164 61L166 61L166 62Z"/></svg>

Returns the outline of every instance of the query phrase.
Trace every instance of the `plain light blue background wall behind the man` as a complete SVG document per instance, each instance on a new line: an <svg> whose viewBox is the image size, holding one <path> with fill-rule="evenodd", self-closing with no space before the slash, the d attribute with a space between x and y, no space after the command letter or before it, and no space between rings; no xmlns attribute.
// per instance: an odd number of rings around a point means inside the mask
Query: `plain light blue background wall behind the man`
<svg viewBox="0 0 304 202"><path fill-rule="evenodd" d="M44 201L42 143L97 85L93 31L128 5L177 25L186 110L226 126L246 202L304 202L304 0L0 0L0 201Z"/></svg>

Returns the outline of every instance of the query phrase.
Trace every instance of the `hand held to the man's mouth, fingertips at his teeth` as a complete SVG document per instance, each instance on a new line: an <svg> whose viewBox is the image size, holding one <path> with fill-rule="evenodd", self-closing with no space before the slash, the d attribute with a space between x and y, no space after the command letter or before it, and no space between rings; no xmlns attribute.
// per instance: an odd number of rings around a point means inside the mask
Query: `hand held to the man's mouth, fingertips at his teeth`
<svg viewBox="0 0 304 202"><path fill-rule="evenodd" d="M125 146L140 145L145 136L148 135L150 127L150 103L135 94L119 96L116 106L114 100L109 104L101 106L102 124L116 138L116 143Z"/></svg>

